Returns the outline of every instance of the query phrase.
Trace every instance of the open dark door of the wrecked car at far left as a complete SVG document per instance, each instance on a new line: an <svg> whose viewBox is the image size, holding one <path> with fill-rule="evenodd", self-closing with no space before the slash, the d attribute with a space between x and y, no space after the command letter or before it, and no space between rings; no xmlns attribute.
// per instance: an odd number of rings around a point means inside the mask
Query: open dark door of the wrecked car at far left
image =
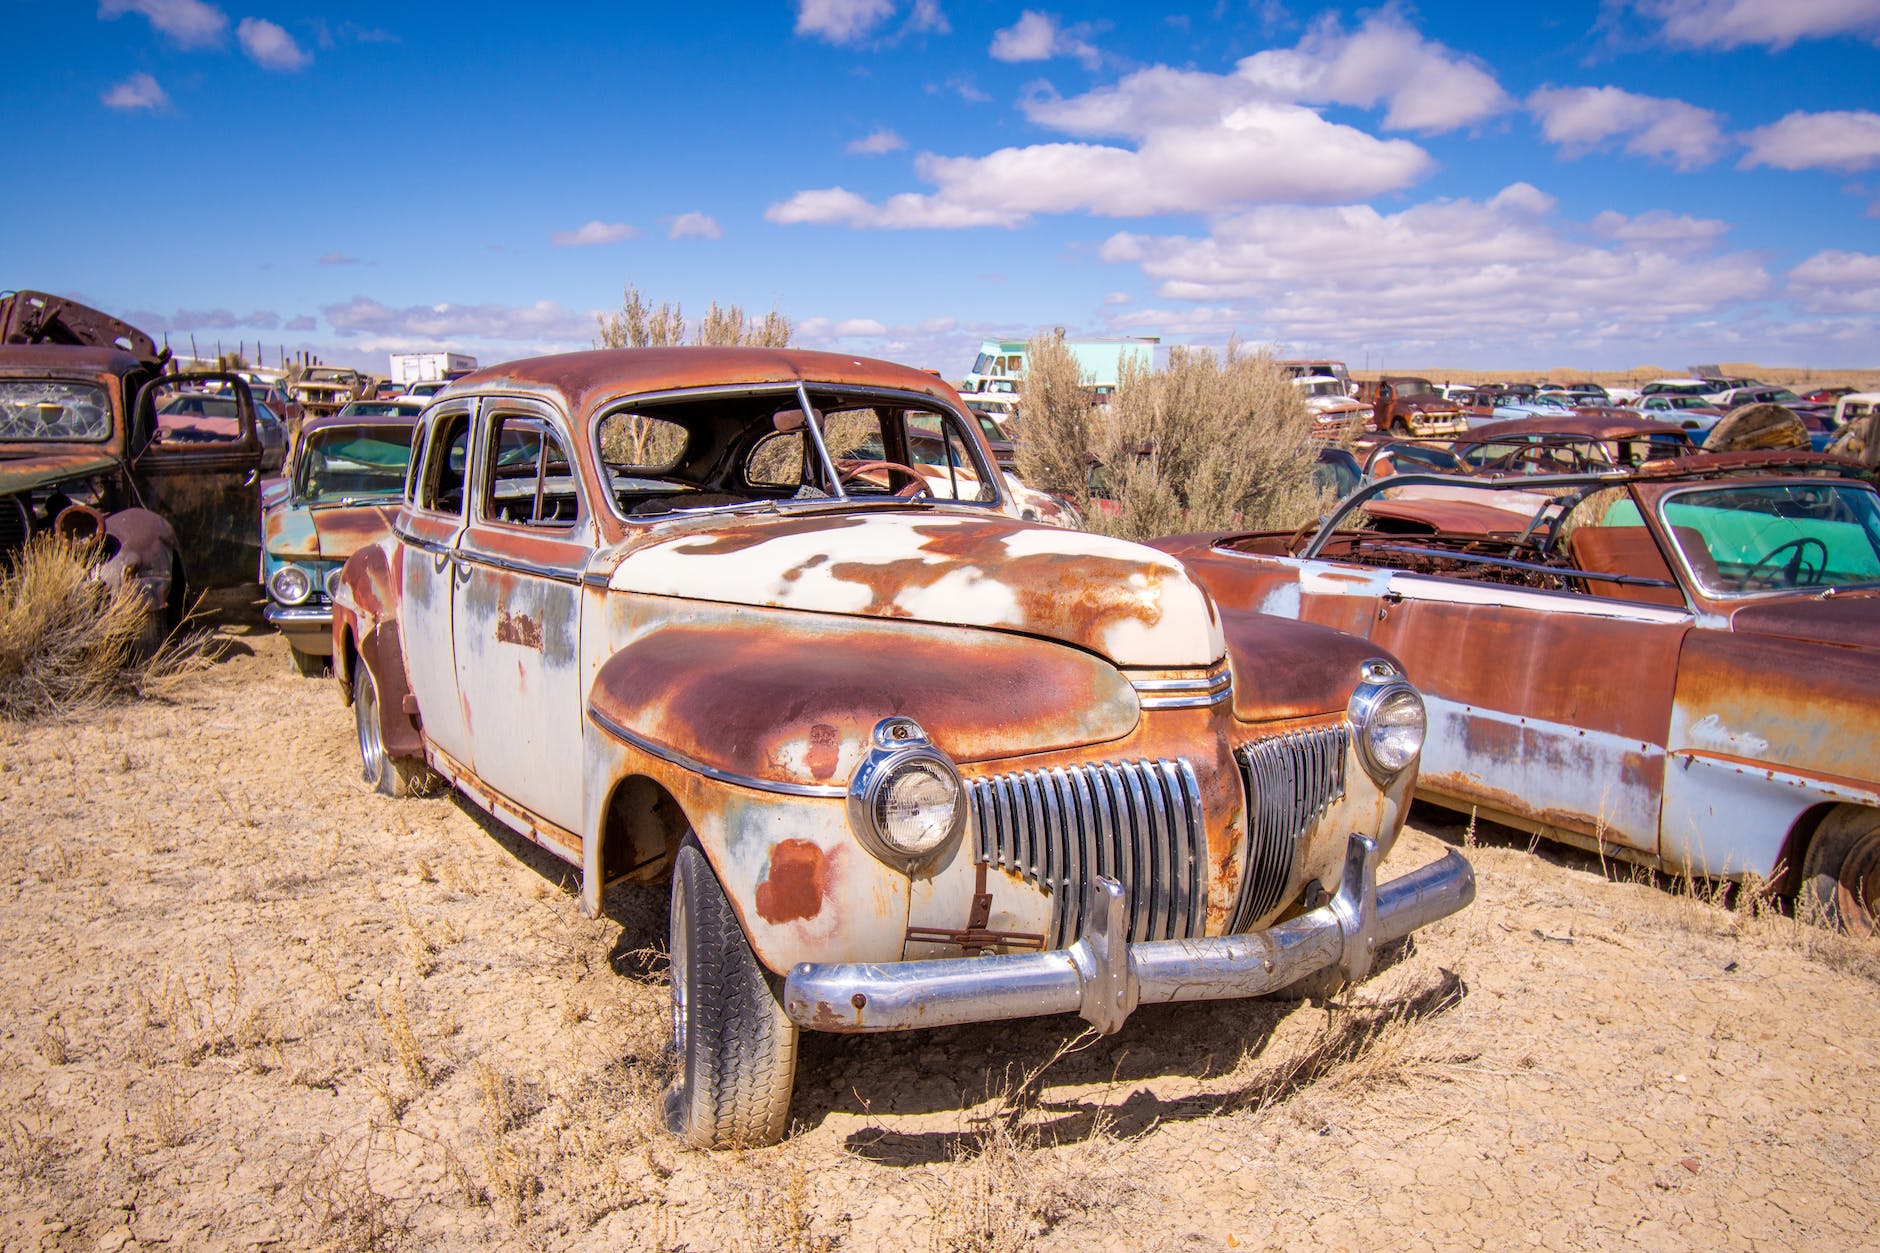
<svg viewBox="0 0 1880 1253"><path fill-rule="evenodd" d="M175 529L190 587L252 583L261 566L263 448L248 384L226 373L150 380L133 399L133 429L152 438L132 480L143 506Z"/></svg>

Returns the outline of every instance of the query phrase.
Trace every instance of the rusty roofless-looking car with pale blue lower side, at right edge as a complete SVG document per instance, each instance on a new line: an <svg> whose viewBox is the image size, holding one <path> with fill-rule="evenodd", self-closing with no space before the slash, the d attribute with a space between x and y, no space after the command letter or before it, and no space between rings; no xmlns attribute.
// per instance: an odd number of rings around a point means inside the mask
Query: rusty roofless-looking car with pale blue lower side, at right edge
<svg viewBox="0 0 1880 1253"><path fill-rule="evenodd" d="M1675 873L1756 877L1872 931L1880 495L1863 474L1814 453L1410 474L1312 536L1156 546L1224 608L1401 657L1429 700L1423 798ZM1513 497L1527 521L1339 529L1395 485Z"/></svg>

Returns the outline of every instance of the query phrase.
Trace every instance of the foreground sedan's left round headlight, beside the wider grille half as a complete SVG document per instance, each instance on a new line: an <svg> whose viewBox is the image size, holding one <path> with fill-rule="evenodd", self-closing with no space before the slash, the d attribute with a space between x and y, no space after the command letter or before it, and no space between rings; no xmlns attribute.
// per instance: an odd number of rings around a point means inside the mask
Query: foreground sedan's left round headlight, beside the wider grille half
<svg viewBox="0 0 1880 1253"><path fill-rule="evenodd" d="M966 828L966 790L914 719L882 719L848 785L848 822L869 852L912 871Z"/></svg>

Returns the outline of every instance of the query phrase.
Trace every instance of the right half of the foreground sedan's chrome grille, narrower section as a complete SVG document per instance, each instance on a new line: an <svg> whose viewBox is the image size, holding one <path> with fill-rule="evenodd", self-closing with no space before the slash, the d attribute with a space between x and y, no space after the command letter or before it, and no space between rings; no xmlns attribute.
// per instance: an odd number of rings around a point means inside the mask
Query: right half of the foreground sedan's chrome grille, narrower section
<svg viewBox="0 0 1880 1253"><path fill-rule="evenodd" d="M1292 879L1299 839L1344 796L1344 754L1352 728L1320 726L1235 749L1246 783L1246 856L1233 931L1273 911Z"/></svg>

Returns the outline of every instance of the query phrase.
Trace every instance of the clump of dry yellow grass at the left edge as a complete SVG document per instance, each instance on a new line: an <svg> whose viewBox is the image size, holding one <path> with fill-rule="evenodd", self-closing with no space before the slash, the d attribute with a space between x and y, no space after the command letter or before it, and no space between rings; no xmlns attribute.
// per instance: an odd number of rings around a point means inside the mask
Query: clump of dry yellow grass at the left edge
<svg viewBox="0 0 1880 1253"><path fill-rule="evenodd" d="M0 719L79 713L141 685L152 610L90 576L94 544L36 534L0 574Z"/></svg>

